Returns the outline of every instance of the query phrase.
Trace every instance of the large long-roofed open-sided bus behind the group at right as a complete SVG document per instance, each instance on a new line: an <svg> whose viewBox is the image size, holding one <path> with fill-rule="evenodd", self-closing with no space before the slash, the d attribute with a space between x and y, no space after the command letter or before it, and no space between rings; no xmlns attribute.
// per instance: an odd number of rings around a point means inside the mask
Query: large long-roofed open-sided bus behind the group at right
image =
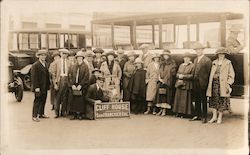
<svg viewBox="0 0 250 155"><path fill-rule="evenodd" d="M106 19L91 21L91 37L94 47L117 49L126 51L138 50L141 44L150 45L149 52L161 52L170 49L172 57L179 65L186 51L193 53L196 42L201 42L206 49L204 53L214 60L215 51L219 47L226 47L226 39L231 26L238 26L243 31L239 34L239 41L245 45L243 14L232 12L167 12L141 15L121 15ZM246 48L244 49L246 50ZM236 72L232 96L243 96L245 84L248 83L248 51L232 53L228 57L232 61ZM244 74L245 73L245 74Z"/></svg>

